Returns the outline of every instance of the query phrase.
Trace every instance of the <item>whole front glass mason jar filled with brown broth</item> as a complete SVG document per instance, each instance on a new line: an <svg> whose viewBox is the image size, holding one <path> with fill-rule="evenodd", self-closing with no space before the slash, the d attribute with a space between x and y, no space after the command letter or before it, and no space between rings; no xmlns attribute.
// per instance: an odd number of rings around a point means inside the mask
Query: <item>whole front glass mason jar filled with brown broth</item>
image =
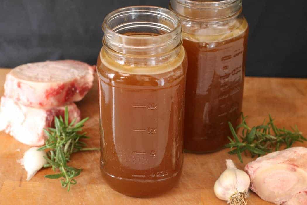
<svg viewBox="0 0 307 205"><path fill-rule="evenodd" d="M172 11L134 6L108 14L97 61L101 172L133 197L170 190L183 163L187 57Z"/></svg>

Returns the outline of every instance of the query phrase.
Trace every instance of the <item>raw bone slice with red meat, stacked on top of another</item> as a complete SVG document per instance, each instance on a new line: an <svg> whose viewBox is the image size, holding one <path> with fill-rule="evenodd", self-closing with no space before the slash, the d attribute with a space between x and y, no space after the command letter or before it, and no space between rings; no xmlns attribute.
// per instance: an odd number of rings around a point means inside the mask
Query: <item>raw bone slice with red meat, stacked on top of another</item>
<svg viewBox="0 0 307 205"><path fill-rule="evenodd" d="M91 89L92 66L72 60L17 66L6 75L4 95L34 108L52 108L80 101Z"/></svg>

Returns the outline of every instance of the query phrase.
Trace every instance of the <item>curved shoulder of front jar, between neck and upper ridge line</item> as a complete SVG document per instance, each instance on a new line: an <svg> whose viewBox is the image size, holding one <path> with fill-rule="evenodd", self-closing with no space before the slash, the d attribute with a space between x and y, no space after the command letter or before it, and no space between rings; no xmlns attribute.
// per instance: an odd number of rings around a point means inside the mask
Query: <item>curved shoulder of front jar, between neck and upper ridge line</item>
<svg viewBox="0 0 307 205"><path fill-rule="evenodd" d="M122 65L101 49L97 69L101 81L130 89L163 89L177 85L186 75L187 55L183 46L177 57L160 65Z"/></svg>

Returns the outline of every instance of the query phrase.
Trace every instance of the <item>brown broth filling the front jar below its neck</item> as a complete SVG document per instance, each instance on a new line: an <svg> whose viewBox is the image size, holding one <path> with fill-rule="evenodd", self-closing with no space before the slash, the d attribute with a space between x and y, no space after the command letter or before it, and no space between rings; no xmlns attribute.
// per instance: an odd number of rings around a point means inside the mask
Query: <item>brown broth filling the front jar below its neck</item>
<svg viewBox="0 0 307 205"><path fill-rule="evenodd" d="M167 64L141 68L120 65L103 50L97 62L103 178L125 195L162 194L181 175L185 51Z"/></svg>

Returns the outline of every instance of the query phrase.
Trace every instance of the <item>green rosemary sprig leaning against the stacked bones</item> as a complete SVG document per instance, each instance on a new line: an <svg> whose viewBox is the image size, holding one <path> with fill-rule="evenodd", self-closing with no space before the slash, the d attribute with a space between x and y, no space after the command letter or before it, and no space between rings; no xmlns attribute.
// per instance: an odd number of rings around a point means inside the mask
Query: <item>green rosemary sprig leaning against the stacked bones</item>
<svg viewBox="0 0 307 205"><path fill-rule="evenodd" d="M99 148L84 148L86 144L79 141L82 138L89 138L86 133L79 134L82 132L84 123L88 120L85 118L80 122L76 123L74 119L70 124L68 123L68 107L65 108L64 120L62 116L59 118L54 118L55 128L48 128L44 130L48 139L44 146L38 148L38 150L49 150L45 159L47 164L44 165L45 168L52 167L55 171L58 169L60 173L45 175L49 179L61 179L62 187L67 187L67 191L70 190L71 185L75 185L77 181L74 177L78 176L82 169L69 167L67 162L70 161L70 155L74 152L88 151L88 150L99 150ZM75 124L75 125L74 125Z"/></svg>

